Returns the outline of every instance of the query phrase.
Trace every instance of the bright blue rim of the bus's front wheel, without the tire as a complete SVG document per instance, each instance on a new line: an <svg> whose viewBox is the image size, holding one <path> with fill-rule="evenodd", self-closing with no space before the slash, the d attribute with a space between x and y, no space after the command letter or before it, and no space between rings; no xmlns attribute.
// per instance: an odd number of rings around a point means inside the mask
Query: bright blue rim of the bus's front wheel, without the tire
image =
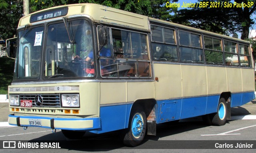
<svg viewBox="0 0 256 153"><path fill-rule="evenodd" d="M143 118L140 113L136 113L134 117L132 118L132 135L135 138L140 137L143 131Z"/></svg>

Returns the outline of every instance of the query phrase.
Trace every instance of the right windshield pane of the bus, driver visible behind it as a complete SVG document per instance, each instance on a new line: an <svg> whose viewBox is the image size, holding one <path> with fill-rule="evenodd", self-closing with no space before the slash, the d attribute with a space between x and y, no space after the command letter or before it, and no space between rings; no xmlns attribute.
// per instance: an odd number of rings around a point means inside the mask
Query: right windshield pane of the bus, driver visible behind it
<svg viewBox="0 0 256 153"><path fill-rule="evenodd" d="M51 24L47 28L44 77L93 77L92 30L86 20ZM88 56L91 60L88 61Z"/></svg>

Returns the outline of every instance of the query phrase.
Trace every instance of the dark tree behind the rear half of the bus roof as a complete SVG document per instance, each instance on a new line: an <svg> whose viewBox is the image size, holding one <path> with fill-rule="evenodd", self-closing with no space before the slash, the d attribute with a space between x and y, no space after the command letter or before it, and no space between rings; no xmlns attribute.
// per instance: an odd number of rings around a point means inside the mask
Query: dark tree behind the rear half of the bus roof
<svg viewBox="0 0 256 153"><path fill-rule="evenodd" d="M178 11L178 15L173 21L219 34L230 35L241 32L242 40L248 38L249 28L254 23L250 17L256 12L256 0L210 1L220 2L220 5L223 5L218 8L182 9ZM206 0L199 0L199 2L206 2ZM232 4L232 7L224 7L224 2ZM248 7L248 4L252 4L251 2L254 2L254 5ZM240 4L240 6L237 4ZM246 4L246 7L241 7L241 4Z"/></svg>

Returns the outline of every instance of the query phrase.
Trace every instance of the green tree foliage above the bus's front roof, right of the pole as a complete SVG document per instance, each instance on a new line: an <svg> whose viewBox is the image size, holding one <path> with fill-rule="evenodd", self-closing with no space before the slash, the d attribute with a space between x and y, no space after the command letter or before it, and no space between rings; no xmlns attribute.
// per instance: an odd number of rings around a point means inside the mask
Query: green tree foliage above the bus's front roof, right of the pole
<svg viewBox="0 0 256 153"><path fill-rule="evenodd" d="M94 3L170 21L177 8L167 8L166 2L177 2L178 0L30 0L31 12L76 3Z"/></svg>

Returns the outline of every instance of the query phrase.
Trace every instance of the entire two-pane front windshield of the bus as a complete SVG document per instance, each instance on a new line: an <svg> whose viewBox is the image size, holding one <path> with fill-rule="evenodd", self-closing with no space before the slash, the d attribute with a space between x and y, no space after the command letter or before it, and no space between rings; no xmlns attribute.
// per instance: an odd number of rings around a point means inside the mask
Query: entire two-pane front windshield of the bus
<svg viewBox="0 0 256 153"><path fill-rule="evenodd" d="M49 24L46 30L43 26L25 28L18 34L14 79L39 79L40 61L44 61L41 72L44 79L95 76L92 30L87 20L63 20Z"/></svg>

